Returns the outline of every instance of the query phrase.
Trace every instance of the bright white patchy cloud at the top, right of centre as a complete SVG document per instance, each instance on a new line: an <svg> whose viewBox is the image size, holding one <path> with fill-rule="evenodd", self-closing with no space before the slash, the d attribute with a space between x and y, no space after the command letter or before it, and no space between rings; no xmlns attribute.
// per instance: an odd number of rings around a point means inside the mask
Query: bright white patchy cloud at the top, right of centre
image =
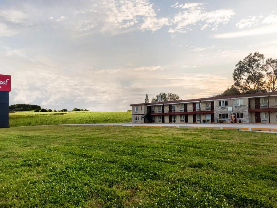
<svg viewBox="0 0 277 208"><path fill-rule="evenodd" d="M188 30L191 30L189 26L196 25L196 23L204 23L204 26L201 27L201 30L210 27L211 30L217 30L219 24L227 24L231 17L235 15L233 10L215 10L206 12L203 8L203 3L185 3L185 4L175 4L172 7L174 8L183 8L184 11L179 11L178 14L174 15L172 19L172 24L175 27L171 27L168 32L180 32L186 33Z"/></svg>

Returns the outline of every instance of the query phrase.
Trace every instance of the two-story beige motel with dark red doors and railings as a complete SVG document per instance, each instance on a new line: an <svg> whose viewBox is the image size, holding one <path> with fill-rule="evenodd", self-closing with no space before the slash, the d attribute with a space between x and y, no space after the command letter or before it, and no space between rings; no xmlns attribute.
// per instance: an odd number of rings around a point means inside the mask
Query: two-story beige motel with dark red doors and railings
<svg viewBox="0 0 277 208"><path fill-rule="evenodd" d="M131 104L133 123L277 123L277 92Z"/></svg>

